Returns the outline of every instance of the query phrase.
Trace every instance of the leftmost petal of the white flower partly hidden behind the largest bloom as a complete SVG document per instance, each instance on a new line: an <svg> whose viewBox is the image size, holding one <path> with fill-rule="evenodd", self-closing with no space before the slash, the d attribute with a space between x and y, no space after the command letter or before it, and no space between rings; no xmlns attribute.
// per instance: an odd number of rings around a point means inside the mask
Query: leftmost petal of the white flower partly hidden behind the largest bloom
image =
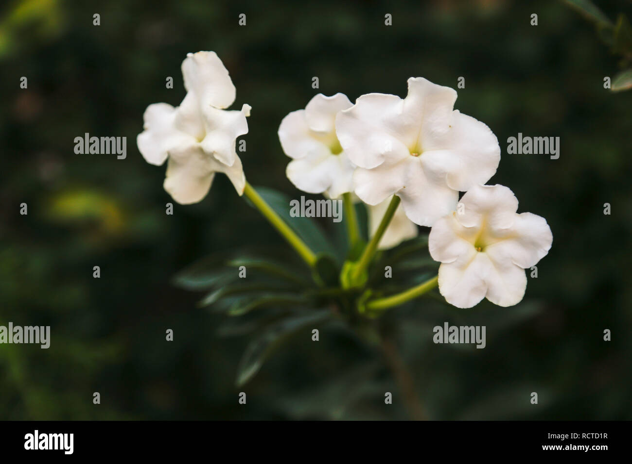
<svg viewBox="0 0 632 464"><path fill-rule="evenodd" d="M331 134L329 138L334 136ZM279 140L283 152L290 158L298 160L304 157L324 157L331 155L327 145L327 137L314 133L307 126L305 110L289 113L279 126Z"/></svg>

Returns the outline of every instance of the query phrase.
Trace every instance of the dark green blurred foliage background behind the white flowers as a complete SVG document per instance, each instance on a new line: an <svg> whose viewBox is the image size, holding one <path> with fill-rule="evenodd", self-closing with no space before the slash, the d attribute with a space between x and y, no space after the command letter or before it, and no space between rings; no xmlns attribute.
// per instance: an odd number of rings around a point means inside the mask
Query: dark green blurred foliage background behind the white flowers
<svg viewBox="0 0 632 464"><path fill-rule="evenodd" d="M0 418L631 419L632 96L603 86L617 66L626 69L621 18L630 17L629 3L600 1L592 15L601 23L617 18L612 30L621 40L611 49L600 43L607 33L595 34L561 1L4 3L0 324L51 325L51 347L0 345ZM252 311L231 317L219 309L229 303L224 296L197 307L236 283L205 292L170 284L202 256L220 259L213 269L228 268L230 277L250 259L253 280L244 283L270 280L279 293L298 287L252 265L262 248L286 274L310 278L222 176L204 201L165 214L164 167L144 162L135 137L147 105L179 104L180 63L199 50L224 61L235 107L253 107L246 177L290 198L301 193L284 175L288 158L276 131L315 93L312 76L320 92L351 100L403 96L410 76L455 88L465 76L456 108L489 125L501 143L490 183L511 187L520 211L547 218L553 231L523 302L459 310L434 294L359 331L337 317L317 321L322 307L255 299ZM559 136L560 158L507 155L505 141L518 132ZM127 158L76 155L73 140L84 133L126 136ZM339 256L344 224L322 220L318 228L338 237ZM396 284L417 274L393 271ZM227 298L250 302L252 292ZM296 316L293 324L275 323L282 312ZM253 332L262 319L266 329ZM435 345L432 327L445 321L486 325L487 347ZM169 328L173 342L165 340ZM370 342L372 333L380 343ZM279 335L288 335L282 349ZM100 405L92 404L94 391ZM386 391L392 405L384 405Z"/></svg>

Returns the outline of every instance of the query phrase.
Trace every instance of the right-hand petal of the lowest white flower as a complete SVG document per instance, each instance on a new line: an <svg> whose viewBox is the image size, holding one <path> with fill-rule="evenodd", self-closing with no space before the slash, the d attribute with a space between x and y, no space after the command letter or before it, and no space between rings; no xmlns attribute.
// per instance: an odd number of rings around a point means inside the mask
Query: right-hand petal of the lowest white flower
<svg viewBox="0 0 632 464"><path fill-rule="evenodd" d="M523 269L535 266L549 253L553 242L545 218L532 213L516 215L507 237L485 248L494 263L513 263Z"/></svg>

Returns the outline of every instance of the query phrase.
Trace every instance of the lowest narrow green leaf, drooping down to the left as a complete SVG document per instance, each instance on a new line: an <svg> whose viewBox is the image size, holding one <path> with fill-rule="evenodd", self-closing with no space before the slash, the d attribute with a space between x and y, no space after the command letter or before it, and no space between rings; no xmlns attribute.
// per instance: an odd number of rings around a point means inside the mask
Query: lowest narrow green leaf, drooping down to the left
<svg viewBox="0 0 632 464"><path fill-rule="evenodd" d="M279 347L289 336L296 331L320 323L331 317L331 312L320 310L310 311L296 317L284 319L281 323L265 329L264 333L248 344L241 357L237 369L237 386L242 386L257 374L265 360Z"/></svg>

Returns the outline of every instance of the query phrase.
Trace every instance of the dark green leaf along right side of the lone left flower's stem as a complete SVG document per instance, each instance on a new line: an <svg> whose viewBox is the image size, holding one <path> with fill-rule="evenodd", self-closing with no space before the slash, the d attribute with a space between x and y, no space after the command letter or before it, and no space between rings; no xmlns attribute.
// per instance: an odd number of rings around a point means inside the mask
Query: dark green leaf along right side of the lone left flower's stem
<svg viewBox="0 0 632 464"><path fill-rule="evenodd" d="M314 253L325 252L336 256L336 252L326 235L312 218L291 217L289 215L290 199L288 196L269 187L257 187L257 192Z"/></svg>

